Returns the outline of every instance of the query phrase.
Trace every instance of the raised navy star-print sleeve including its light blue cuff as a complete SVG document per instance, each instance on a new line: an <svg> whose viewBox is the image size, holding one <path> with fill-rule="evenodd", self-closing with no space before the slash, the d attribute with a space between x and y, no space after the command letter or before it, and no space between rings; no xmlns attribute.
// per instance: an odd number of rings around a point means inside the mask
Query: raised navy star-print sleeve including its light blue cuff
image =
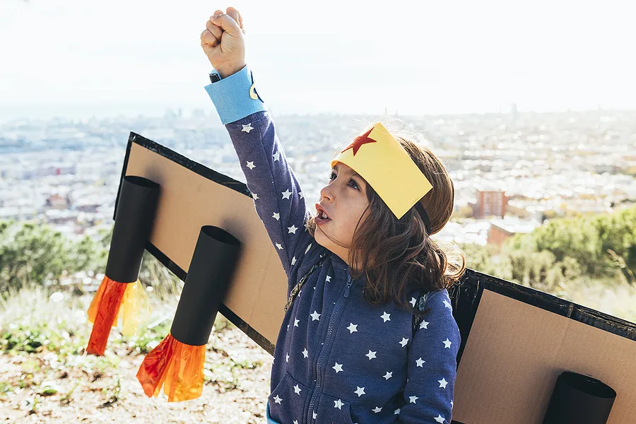
<svg viewBox="0 0 636 424"><path fill-rule="evenodd" d="M305 226L311 215L252 71L245 66L206 91L230 134L254 208L290 276L312 240Z"/></svg>

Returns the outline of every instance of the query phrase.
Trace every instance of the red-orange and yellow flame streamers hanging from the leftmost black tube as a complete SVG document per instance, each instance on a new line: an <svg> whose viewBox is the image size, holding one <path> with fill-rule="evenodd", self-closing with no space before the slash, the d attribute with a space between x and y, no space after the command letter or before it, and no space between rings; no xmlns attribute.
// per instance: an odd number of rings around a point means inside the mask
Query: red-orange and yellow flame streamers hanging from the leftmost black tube
<svg viewBox="0 0 636 424"><path fill-rule="evenodd" d="M118 283L104 277L93 301L88 307L88 321L93 323L86 351L93 355L103 355L112 326L117 325L117 317L122 319L122 334L136 334L139 326L150 317L148 295L141 283Z"/></svg>

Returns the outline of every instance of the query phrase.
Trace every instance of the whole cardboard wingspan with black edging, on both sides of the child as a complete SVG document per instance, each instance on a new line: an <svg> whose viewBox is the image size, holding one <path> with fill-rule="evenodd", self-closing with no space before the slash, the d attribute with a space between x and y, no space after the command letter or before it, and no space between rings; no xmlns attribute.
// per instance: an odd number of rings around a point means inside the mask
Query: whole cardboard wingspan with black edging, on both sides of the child
<svg viewBox="0 0 636 424"><path fill-rule="evenodd" d="M247 186L134 133L124 175L161 185L146 249L182 280L202 226L240 240L218 311L273 354L287 277ZM470 269L450 294L461 332L453 423L542 423L564 371L616 391L607 423L634 422L636 324Z"/></svg>

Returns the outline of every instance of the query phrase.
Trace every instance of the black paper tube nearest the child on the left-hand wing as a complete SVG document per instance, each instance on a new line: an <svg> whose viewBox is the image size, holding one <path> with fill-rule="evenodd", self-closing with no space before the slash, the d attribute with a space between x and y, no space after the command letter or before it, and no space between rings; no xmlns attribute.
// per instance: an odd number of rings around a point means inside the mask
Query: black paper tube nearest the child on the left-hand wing
<svg viewBox="0 0 636 424"><path fill-rule="evenodd" d="M240 242L229 232L206 225L199 232L170 334L181 343L208 343L218 307L225 298Z"/></svg>

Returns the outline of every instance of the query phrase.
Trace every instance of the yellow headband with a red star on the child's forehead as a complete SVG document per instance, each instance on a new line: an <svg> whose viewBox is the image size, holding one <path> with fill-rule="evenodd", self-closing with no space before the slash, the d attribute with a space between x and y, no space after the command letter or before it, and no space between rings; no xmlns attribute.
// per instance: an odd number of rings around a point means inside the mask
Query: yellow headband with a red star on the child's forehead
<svg viewBox="0 0 636 424"><path fill-rule="evenodd" d="M432 185L382 122L367 126L334 160L358 172L399 219Z"/></svg>

